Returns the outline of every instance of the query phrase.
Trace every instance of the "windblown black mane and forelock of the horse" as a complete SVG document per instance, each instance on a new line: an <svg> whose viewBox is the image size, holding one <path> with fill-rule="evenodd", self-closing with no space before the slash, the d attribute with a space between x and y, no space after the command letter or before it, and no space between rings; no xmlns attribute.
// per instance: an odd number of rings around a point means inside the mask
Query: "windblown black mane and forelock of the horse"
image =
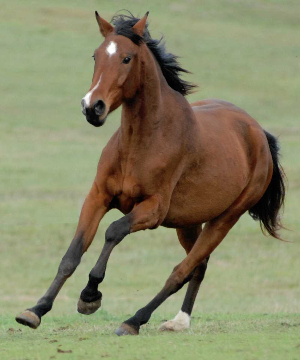
<svg viewBox="0 0 300 360"><path fill-rule="evenodd" d="M179 65L177 61L178 56L166 52L165 43L161 42L163 36L159 40L152 39L148 30L148 23L145 26L143 37L137 35L132 28L139 19L134 17L128 10L126 11L128 12L128 15L117 14L113 16L111 20L113 26L115 26L116 34L128 37L128 39L137 45L141 42L145 42L149 50L152 51L152 54L156 58L158 64L160 64L161 71L169 86L182 95L192 93L193 89L196 88L197 85L191 84L179 77L180 72L190 72Z"/></svg>

